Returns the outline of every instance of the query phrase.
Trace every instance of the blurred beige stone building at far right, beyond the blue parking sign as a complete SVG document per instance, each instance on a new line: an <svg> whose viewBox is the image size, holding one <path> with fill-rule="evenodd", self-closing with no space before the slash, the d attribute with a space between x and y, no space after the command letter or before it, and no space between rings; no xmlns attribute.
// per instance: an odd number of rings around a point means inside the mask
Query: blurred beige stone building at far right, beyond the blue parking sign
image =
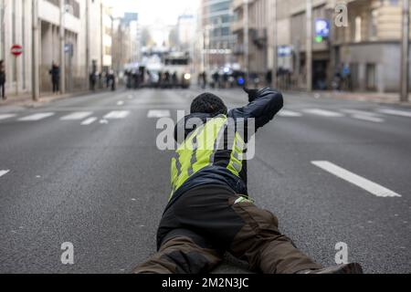
<svg viewBox="0 0 411 292"><path fill-rule="evenodd" d="M402 1L352 1L348 11L332 39L336 67L349 66L353 90L399 91Z"/></svg>

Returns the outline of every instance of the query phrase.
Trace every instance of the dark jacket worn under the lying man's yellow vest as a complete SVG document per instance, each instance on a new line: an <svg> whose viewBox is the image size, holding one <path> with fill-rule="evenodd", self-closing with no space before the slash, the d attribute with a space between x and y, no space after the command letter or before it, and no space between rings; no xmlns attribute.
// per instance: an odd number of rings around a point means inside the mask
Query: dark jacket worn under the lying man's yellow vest
<svg viewBox="0 0 411 292"><path fill-rule="evenodd" d="M243 108L230 110L228 118L234 120L254 118L256 121L256 131L266 125L283 107L283 98L281 93L275 89L261 89L256 97L250 99L250 103ZM185 123L190 118L199 118L205 120L213 118L209 114L196 113L186 116L184 120L177 123L174 130L175 141L178 141L177 132L184 128L184 139L195 129L187 129ZM181 141L179 141L181 142ZM227 160L229 161L231 151L219 151L216 155L215 162L212 166L208 166L196 172L191 176L173 195L169 206L173 204L179 197L187 191L204 184L222 184L228 185L234 192L238 194L248 195L247 189L247 161L243 162L243 171L240 177L237 177L232 172L227 170ZM168 209L168 208L167 208ZM166 210L167 210L166 209Z"/></svg>

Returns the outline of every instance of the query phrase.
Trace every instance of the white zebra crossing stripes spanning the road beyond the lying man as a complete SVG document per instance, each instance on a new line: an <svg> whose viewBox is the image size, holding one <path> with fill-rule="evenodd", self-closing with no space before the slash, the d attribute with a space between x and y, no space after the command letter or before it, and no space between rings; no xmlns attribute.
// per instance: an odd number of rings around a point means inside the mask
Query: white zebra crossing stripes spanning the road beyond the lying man
<svg viewBox="0 0 411 292"><path fill-rule="evenodd" d="M49 120L57 118L60 121L79 121L82 126L89 126L99 120L122 120L131 115L130 110L111 110L104 113L95 113L93 111L74 111L65 113L62 116L57 112L37 112L29 114L21 113L0 113L0 122L19 121L19 122L34 122L41 120ZM280 118L302 118L302 117L321 117L325 119L342 119L349 118L353 120L361 120L364 122L382 123L388 117L411 118L411 110L393 110L393 109L378 109L378 110L324 110L324 109L302 109L302 110L281 110L278 114ZM171 117L171 110L148 110L147 119L159 119L163 117Z"/></svg>

